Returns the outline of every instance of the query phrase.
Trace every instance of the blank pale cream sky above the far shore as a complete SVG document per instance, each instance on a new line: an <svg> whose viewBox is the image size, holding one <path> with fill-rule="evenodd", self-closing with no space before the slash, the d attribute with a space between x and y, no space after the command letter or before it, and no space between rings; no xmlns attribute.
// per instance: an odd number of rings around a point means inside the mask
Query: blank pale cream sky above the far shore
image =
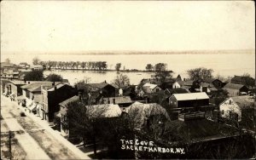
<svg viewBox="0 0 256 160"><path fill-rule="evenodd" d="M2 53L255 49L253 2L3 1Z"/></svg>

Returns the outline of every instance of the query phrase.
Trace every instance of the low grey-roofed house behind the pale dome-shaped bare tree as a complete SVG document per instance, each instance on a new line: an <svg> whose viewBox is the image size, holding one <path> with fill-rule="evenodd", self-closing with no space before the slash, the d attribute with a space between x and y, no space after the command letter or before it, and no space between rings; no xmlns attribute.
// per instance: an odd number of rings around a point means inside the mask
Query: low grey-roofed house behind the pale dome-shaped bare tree
<svg viewBox="0 0 256 160"><path fill-rule="evenodd" d="M123 108L130 106L132 104L132 100L130 96L105 97L102 99L102 104L114 104Z"/></svg>

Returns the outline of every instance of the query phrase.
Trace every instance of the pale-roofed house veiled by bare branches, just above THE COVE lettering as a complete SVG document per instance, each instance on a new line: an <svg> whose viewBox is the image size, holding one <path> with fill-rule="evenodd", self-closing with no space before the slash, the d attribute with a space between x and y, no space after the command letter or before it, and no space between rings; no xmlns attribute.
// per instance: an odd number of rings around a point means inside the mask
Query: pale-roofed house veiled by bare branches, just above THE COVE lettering
<svg viewBox="0 0 256 160"><path fill-rule="evenodd" d="M159 125L170 121L170 117L165 108L157 103L143 104L135 102L123 111L123 116L128 116L130 121L134 122L136 129L150 129L151 125Z"/></svg>

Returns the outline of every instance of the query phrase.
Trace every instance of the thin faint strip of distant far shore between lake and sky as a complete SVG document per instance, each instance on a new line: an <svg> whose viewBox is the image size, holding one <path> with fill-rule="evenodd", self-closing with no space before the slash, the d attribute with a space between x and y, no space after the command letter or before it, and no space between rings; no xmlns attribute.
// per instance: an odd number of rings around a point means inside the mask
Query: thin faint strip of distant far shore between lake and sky
<svg viewBox="0 0 256 160"><path fill-rule="evenodd" d="M250 53L245 53L250 52ZM251 53L252 52L252 53ZM102 54L253 54L255 49L198 49L198 50L86 50L86 51L63 51L63 52L36 52L29 51L24 53L6 52L2 54L87 54L87 55L102 55Z"/></svg>

